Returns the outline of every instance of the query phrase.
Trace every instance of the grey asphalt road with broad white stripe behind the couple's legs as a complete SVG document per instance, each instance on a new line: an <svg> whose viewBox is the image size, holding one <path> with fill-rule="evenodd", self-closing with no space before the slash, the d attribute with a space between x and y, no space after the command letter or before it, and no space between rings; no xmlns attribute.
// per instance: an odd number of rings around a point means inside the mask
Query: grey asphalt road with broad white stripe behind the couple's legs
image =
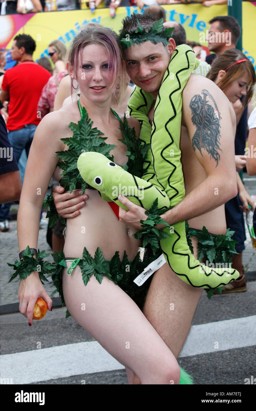
<svg viewBox="0 0 256 411"><path fill-rule="evenodd" d="M249 194L256 194L256 178L244 175ZM15 207L14 207L15 212ZM50 254L46 230L39 233L39 248ZM1 378L13 384L127 384L124 367L111 357L65 309L55 308L29 327L18 309L18 281L7 284L12 270L6 262L18 255L16 221L0 233L1 270ZM256 250L247 232L243 263L247 291L213 296L204 292L178 362L196 385L244 385L256 377ZM46 291L53 291L52 284ZM15 312L16 311L16 312ZM40 364L40 374L38 374ZM255 380L256 381L256 380Z"/></svg>

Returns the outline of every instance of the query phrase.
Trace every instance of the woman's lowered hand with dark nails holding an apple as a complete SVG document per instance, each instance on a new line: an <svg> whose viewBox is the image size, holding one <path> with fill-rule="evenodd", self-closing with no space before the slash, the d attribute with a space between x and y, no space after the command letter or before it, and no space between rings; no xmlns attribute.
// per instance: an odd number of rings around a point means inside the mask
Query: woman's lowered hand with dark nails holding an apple
<svg viewBox="0 0 256 411"><path fill-rule="evenodd" d="M46 293L39 279L38 272L33 271L26 279L21 280L18 287L19 310L21 314L28 318L28 324L30 326L32 326L33 310L38 297L43 298L48 310L51 311L53 301Z"/></svg>

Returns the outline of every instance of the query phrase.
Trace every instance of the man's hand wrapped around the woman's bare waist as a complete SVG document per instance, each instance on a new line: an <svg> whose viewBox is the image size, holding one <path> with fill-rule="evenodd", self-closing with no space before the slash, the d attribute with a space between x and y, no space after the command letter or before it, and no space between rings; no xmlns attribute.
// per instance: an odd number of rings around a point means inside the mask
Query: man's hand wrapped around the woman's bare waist
<svg viewBox="0 0 256 411"><path fill-rule="evenodd" d="M63 218L74 218L80 214L78 211L85 205L88 195L81 196L81 190L64 193L65 188L60 185L53 187L53 200L58 214Z"/></svg>

